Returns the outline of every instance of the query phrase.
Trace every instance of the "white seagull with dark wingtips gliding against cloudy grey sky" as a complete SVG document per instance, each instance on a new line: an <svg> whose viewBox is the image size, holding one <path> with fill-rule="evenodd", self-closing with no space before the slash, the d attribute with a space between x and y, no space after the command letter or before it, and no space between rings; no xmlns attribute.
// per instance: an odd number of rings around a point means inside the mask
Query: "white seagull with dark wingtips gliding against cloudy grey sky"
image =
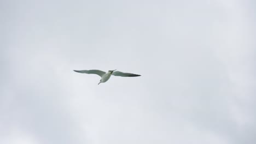
<svg viewBox="0 0 256 144"><path fill-rule="evenodd" d="M117 70L117 69L115 69L115 70ZM108 73L106 73L105 71L96 70L96 69L92 69L92 70L74 70L74 71L77 72L77 73L96 74L96 75L100 76L101 80L98 83L98 85L100 85L100 83L108 81L108 79L110 78L111 75L123 76L123 77L141 76L141 75L137 75L137 74L123 73L121 71L115 71L115 70L108 70Z"/></svg>

